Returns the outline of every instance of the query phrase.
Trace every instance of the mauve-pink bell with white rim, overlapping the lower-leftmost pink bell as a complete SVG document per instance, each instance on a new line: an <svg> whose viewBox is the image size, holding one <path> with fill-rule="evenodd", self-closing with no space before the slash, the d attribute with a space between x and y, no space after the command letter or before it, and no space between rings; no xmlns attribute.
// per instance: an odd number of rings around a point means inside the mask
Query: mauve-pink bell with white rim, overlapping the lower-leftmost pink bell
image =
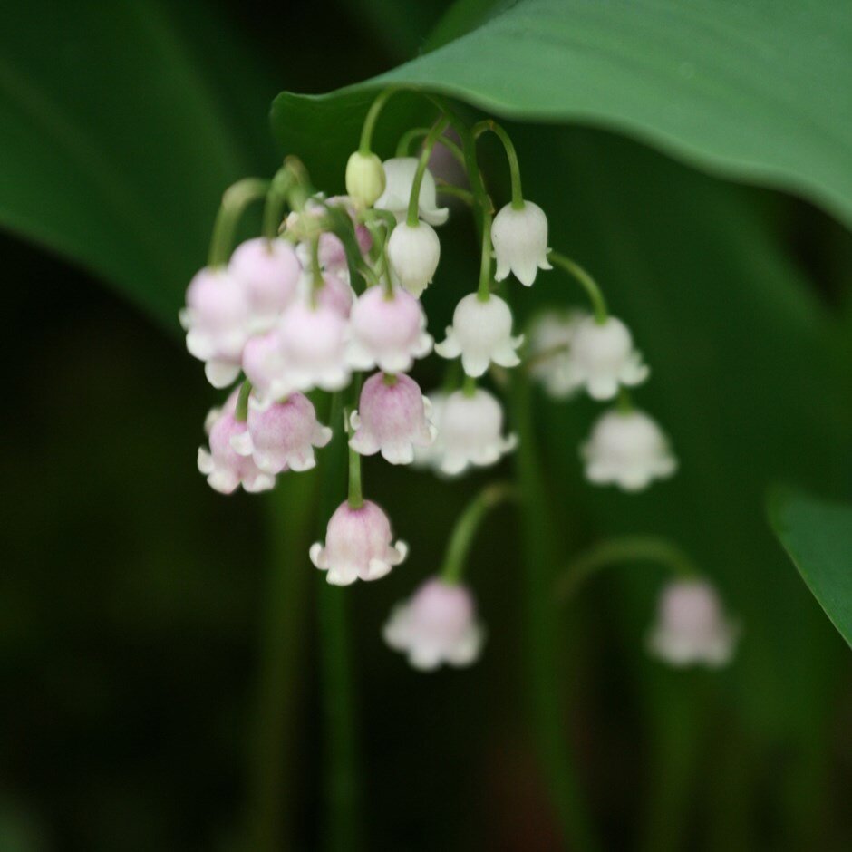
<svg viewBox="0 0 852 852"><path fill-rule="evenodd" d="M250 456L266 473L284 470L311 470L315 467L315 447L324 447L332 431L316 420L311 401L292 393L284 402L248 402L248 429L231 439L241 456Z"/></svg>

